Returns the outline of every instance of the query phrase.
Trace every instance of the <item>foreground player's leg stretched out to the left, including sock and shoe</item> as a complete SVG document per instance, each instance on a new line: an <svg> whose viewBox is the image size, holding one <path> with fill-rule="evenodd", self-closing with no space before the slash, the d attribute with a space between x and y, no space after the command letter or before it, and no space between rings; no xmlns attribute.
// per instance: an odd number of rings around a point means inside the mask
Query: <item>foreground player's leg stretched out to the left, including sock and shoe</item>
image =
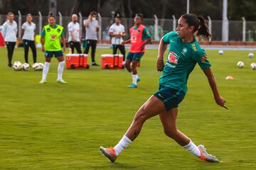
<svg viewBox="0 0 256 170"><path fill-rule="evenodd" d="M137 111L136 115L134 116L132 124L125 133L124 137L122 137L122 139L119 141L119 143L115 147L100 147L100 152L102 152L102 154L104 154L105 157L107 157L107 159L109 159L111 162L114 162L120 152L132 144L132 141L136 139L136 137L139 135L139 132L142 130L142 125L144 122L147 119L158 115L164 110L164 103L160 101L159 98L156 98L156 96L151 96L144 103L144 105L139 108L139 111Z"/></svg>

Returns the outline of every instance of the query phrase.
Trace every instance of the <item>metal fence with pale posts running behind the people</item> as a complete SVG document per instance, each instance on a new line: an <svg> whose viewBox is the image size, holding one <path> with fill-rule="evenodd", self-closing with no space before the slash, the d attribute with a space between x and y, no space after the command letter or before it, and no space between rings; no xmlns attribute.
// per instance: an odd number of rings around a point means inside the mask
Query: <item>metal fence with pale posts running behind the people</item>
<svg viewBox="0 0 256 170"><path fill-rule="evenodd" d="M19 12L18 12L19 13ZM80 29L82 30L80 33L81 38L85 36L85 27L82 24L82 21L86 19L86 17L82 17L79 13L80 19ZM113 18L104 18L100 17L99 14L99 23L100 23L100 33L98 35L99 40L110 40L110 36L108 35L108 29L111 24L114 22ZM0 15L0 25L2 25L6 21L6 16ZM21 37L21 25L26 22L26 16L22 16L19 13L18 16L15 16L15 21L18 23L18 38ZM41 16L41 13L38 12L38 16L33 16L33 22L36 23L36 34L41 33L42 27L47 23L47 16ZM65 34L68 37L68 23L70 22L70 16L61 16L61 13L58 13L57 23L62 25L65 28ZM144 25L149 28L149 32L151 33L153 40L159 40L164 34L168 33L171 30L175 30L177 19L173 16L172 19L161 19L154 16L154 18L144 18ZM227 21L228 23L228 40L230 41L255 41L256 40L256 21L245 21L241 19L241 21ZM133 25L133 18L122 18L122 24L124 25L127 37L129 37L129 28ZM211 20L208 17L206 21L208 27L210 29L210 33L212 33L213 38L211 40L223 40L222 36L222 27L223 21L215 21Z"/></svg>

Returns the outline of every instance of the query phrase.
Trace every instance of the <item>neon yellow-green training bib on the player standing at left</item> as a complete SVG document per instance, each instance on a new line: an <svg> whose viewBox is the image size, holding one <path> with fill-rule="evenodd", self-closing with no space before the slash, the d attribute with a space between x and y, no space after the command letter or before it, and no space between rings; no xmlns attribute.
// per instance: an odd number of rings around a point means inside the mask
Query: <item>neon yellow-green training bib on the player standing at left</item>
<svg viewBox="0 0 256 170"><path fill-rule="evenodd" d="M60 37L62 34L62 26L55 25L54 28L50 25L44 26L41 35L45 37L44 46L46 51L61 51Z"/></svg>

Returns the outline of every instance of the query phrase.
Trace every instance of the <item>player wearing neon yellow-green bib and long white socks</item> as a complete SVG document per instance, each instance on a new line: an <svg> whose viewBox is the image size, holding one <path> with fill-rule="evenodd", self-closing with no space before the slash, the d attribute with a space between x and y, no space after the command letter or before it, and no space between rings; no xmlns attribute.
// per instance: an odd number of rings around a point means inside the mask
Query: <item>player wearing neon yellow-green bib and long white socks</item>
<svg viewBox="0 0 256 170"><path fill-rule="evenodd" d="M63 42L63 51L65 51L63 27L57 25L55 16L53 16L53 13L49 13L48 25L43 27L41 33L42 52L45 52L46 62L43 66L43 78L41 79L40 84L46 84L46 77L50 67L50 60L53 55L59 62L57 82L67 84L67 82L62 78L65 61L63 52L61 50L60 39Z"/></svg>

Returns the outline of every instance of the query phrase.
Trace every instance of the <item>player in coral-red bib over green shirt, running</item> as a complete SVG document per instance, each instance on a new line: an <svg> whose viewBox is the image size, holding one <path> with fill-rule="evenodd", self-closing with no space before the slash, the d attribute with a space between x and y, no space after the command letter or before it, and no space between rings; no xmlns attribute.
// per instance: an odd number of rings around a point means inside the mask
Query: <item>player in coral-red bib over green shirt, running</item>
<svg viewBox="0 0 256 170"><path fill-rule="evenodd" d="M142 19L142 14L137 13L134 18L135 24L129 30L131 38L122 42L122 45L131 43L129 53L127 55L127 60L125 60L125 67L127 68L127 71L132 73L132 84L128 86L129 88L136 88L137 82L140 81L137 74L137 64L144 55L145 45L151 41L149 30L142 25Z"/></svg>

